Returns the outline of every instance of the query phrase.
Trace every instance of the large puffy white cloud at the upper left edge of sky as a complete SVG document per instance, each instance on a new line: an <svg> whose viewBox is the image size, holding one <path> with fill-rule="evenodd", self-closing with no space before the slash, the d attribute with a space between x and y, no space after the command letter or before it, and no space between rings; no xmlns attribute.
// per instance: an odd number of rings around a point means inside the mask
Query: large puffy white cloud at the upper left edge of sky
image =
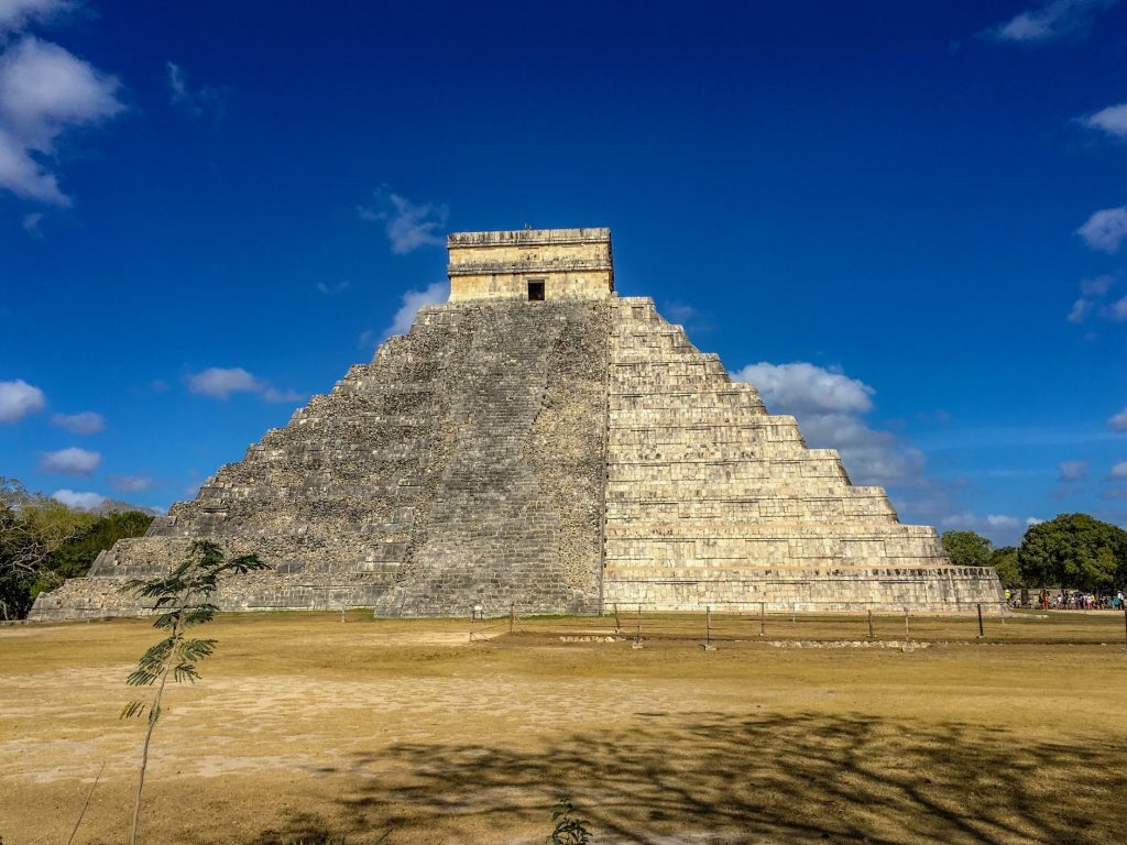
<svg viewBox="0 0 1127 845"><path fill-rule="evenodd" d="M54 155L55 141L68 130L95 126L122 112L119 87L114 77L34 36L0 54L0 188L69 205L43 158Z"/></svg>

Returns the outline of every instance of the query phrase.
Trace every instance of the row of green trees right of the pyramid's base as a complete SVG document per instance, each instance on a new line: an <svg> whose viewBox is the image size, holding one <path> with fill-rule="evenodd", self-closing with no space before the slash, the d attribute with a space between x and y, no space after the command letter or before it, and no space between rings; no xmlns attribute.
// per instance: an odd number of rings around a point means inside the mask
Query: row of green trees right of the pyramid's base
<svg viewBox="0 0 1127 845"><path fill-rule="evenodd" d="M1029 526L1021 545L994 548L973 531L948 531L943 550L960 567L994 567L1008 589L1059 587L1108 594L1127 588L1127 531L1088 514Z"/></svg>

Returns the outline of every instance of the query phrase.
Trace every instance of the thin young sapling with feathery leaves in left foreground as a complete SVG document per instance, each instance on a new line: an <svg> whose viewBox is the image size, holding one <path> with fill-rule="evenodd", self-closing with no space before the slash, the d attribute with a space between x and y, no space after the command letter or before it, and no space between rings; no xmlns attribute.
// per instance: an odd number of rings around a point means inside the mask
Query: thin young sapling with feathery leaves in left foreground
<svg viewBox="0 0 1127 845"><path fill-rule="evenodd" d="M159 631L168 632L141 656L137 668L125 679L130 686L157 685L150 701L131 701L122 710L122 719L140 717L147 709L149 711L149 727L141 750L141 772L133 804L131 845L136 845L141 791L144 789L144 773L149 765L149 744L157 720L160 719L161 699L168 676L171 675L175 683L187 681L194 684L199 678L196 662L211 657L215 650L215 640L193 639L188 637L188 631L215 617L219 607L211 603L211 597L221 578L269 568L258 555L243 554L227 560L223 550L215 543L196 541L188 548L187 559L167 575L148 579L133 578L123 588L141 599L152 599L153 610L158 611L152 625Z"/></svg>

